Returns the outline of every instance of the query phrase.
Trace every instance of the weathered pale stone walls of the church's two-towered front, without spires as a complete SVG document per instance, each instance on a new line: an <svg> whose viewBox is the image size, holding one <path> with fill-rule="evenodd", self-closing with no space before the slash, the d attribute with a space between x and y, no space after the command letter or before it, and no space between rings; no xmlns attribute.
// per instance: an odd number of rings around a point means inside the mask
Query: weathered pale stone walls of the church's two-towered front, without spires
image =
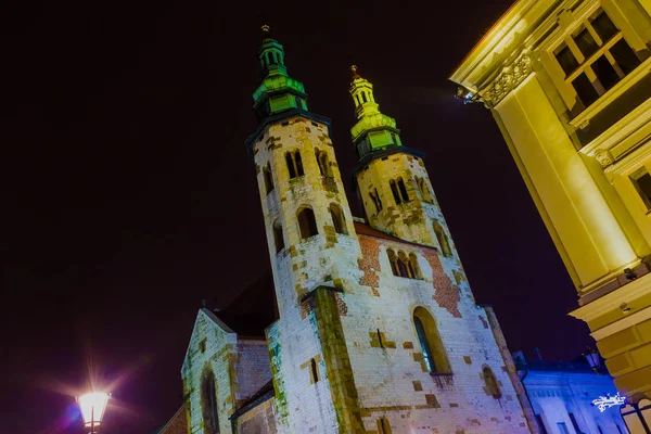
<svg viewBox="0 0 651 434"><path fill-rule="evenodd" d="M319 174L315 148L329 154L333 176L328 180ZM289 179L284 154L296 149L302 152L305 176ZM319 124L297 117L271 126L254 145L254 155L280 311L279 321L267 330L279 432L348 432L346 426L354 422L344 421L350 414L341 413L350 408L350 399L357 401L366 432L376 432L381 418L394 433L528 432L486 314L475 305L456 253L444 257L423 245L357 234L334 151L327 129ZM396 169L399 164L391 158L398 158L413 176L426 180L432 204L418 200L418 187L410 184L404 167ZM387 167L378 168L379 174L387 171L382 173L386 188L388 178L400 173L412 200L400 205L403 208L394 206L391 230L378 220L374 225L437 246L432 225L436 218L455 252L422 162L406 154L392 155L386 162ZM269 194L261 169L267 163L275 183ZM386 194L391 195L391 190ZM385 195L383 202L391 206L392 201ZM348 234L334 232L328 210L332 202L344 210ZM319 230L308 240L302 240L296 218L304 205L314 209ZM400 213L410 217L403 218ZM284 237L279 253L272 232L276 219ZM422 279L393 276L386 253L390 247L414 254ZM330 332L343 334L345 345L334 353L331 347L328 352L323 348L328 330L322 328L335 322L320 320L314 297L306 297L319 286L343 291L333 295L341 330ZM417 307L434 317L451 374L426 371L412 319ZM318 381L310 370L311 359ZM329 363L336 365L336 372ZM492 368L500 384L499 399L486 393L484 366ZM345 384L341 384L343 378L348 379Z"/></svg>

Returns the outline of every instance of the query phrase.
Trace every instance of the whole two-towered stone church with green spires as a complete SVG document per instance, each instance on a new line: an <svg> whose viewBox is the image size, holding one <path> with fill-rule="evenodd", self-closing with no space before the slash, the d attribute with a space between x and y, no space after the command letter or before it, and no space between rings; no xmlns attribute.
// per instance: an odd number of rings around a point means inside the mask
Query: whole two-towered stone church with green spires
<svg viewBox="0 0 651 434"><path fill-rule="evenodd" d="M353 67L354 217L331 122L263 27L255 164L271 272L200 309L184 404L161 433L529 433L493 309L478 306L424 154ZM253 171L252 171L253 176ZM533 431L532 431L533 430Z"/></svg>

